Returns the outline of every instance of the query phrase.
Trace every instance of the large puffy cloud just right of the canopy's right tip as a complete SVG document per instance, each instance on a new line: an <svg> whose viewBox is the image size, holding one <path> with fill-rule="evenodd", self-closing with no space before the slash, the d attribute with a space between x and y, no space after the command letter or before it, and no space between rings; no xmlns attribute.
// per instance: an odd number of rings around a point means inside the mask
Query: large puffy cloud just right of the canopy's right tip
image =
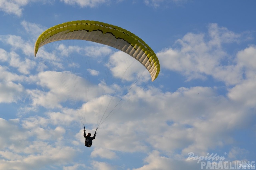
<svg viewBox="0 0 256 170"><path fill-rule="evenodd" d="M239 42L240 34L217 24L209 24L208 35L187 33L177 40L178 49L165 49L159 53L163 68L181 72L187 80L205 79L208 75L227 85L234 85L243 79L240 65L222 49L225 43ZM209 38L209 40L207 40ZM229 60L230 59L230 60ZM229 64L223 64L229 60Z"/></svg>

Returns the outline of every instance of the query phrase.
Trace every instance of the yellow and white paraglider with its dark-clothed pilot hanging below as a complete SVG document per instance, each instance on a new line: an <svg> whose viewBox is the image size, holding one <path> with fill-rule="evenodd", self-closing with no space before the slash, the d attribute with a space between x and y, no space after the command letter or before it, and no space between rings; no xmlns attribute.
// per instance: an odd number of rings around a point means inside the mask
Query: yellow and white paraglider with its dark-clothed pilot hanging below
<svg viewBox="0 0 256 170"><path fill-rule="evenodd" d="M151 75L152 82L159 75L160 64L154 51L138 36L121 27L88 20L71 21L55 25L39 35L34 46L34 55L37 55L39 48L43 45L60 40L87 40L111 46L132 56L144 65ZM96 131L101 124L102 122L97 125ZM84 127L86 146L91 146L92 140L95 139L96 131L94 136L91 137L90 133L89 135L85 134Z"/></svg>

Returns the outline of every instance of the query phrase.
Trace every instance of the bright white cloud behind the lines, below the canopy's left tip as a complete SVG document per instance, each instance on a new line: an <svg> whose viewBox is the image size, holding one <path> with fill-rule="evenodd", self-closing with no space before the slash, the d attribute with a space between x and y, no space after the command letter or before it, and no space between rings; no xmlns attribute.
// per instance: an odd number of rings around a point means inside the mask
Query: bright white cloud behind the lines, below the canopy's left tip
<svg viewBox="0 0 256 170"><path fill-rule="evenodd" d="M70 100L71 104L76 105L77 101L87 101L100 94L100 90L90 85L90 91L86 80L69 72L46 71L38 74L39 82L48 92L39 90L28 90L33 96L33 105L45 107L60 107L59 102ZM80 89L79 91L77 89ZM85 93L89 93L85 95ZM73 102L73 103L72 103Z"/></svg>

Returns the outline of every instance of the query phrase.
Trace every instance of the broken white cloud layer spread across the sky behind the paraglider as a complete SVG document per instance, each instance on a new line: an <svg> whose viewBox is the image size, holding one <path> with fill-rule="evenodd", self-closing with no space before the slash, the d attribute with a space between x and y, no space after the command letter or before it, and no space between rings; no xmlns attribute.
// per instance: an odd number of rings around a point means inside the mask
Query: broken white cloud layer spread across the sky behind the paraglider
<svg viewBox="0 0 256 170"><path fill-rule="evenodd" d="M21 16L32 2L2 1L0 9ZM61 2L97 7L108 1ZM228 161L251 161L251 145L238 142L245 131L255 133L256 46L247 44L247 34L216 23L207 32L187 33L157 52L161 74L148 83L140 64L106 46L58 42L34 58L33 43L46 28L25 20L20 27L21 35L0 35L0 169L199 169L188 153L218 150ZM246 45L237 51L226 48L240 43ZM90 64L69 60L70 54ZM172 72L186 82L213 81L168 91ZM18 111L10 112L13 105ZM90 151L81 122L87 133L100 125ZM127 155L134 166L119 165Z"/></svg>

